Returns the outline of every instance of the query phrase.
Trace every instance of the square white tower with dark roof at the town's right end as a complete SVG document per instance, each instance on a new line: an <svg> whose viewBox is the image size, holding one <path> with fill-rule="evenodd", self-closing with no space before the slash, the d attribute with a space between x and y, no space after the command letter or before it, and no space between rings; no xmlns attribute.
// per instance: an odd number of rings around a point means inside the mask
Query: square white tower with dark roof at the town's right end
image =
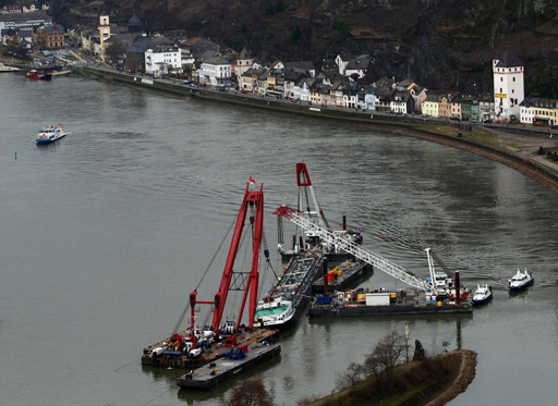
<svg viewBox="0 0 558 406"><path fill-rule="evenodd" d="M525 98L523 63L508 47L493 61L494 112L497 122L519 120L519 104Z"/></svg>

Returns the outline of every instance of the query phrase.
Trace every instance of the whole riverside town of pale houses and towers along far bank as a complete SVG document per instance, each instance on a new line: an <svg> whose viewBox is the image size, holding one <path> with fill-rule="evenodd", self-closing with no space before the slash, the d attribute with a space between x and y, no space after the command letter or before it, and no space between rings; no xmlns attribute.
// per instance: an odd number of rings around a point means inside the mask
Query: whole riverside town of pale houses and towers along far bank
<svg viewBox="0 0 558 406"><path fill-rule="evenodd" d="M101 9L96 26L64 28L48 11L46 3L41 10L33 3L0 10L2 45L33 54L39 70L93 63L147 79L314 108L558 130L558 99L525 96L525 66L511 48L493 59L494 91L480 94L476 85L427 89L410 77L373 77L374 56L366 53L342 52L320 66L312 61L263 64L246 47L238 53L207 38L147 36L137 16L114 26Z"/></svg>

